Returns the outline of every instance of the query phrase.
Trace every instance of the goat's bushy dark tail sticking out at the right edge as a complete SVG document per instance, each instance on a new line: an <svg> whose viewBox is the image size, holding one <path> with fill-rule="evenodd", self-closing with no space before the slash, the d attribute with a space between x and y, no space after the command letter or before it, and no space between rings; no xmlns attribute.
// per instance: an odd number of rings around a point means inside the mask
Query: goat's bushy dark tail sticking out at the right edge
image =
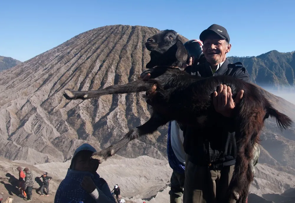
<svg viewBox="0 0 295 203"><path fill-rule="evenodd" d="M271 106L266 107L266 109L267 114L269 114L271 117L276 118L276 123L281 131L293 125L294 122L287 115L278 112L278 110L274 109Z"/></svg>

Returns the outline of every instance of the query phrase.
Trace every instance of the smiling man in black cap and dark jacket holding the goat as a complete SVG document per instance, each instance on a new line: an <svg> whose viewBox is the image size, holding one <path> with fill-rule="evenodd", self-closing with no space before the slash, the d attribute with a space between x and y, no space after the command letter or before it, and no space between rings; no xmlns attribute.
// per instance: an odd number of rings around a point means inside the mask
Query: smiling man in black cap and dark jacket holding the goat
<svg viewBox="0 0 295 203"><path fill-rule="evenodd" d="M206 61L202 64L189 66L193 75L211 77L229 75L250 82L250 75L241 63L230 64L226 54L231 49L230 37L227 30L217 24L211 25L200 34L203 41L203 53ZM147 76L147 78L149 75ZM146 78L146 77L145 77ZM156 86L149 92L155 95ZM220 119L231 118L232 109L243 97L241 90L235 99L229 86L220 85L214 92L213 103L215 110L220 113ZM184 130L184 150L186 156L186 173L184 183L184 203L219 202L226 194L235 167L237 147L235 132L227 126L216 123L216 128L196 130L186 127ZM219 139L214 136L219 134ZM253 167L258 162L259 147L254 147L255 160ZM255 171L253 171L255 172ZM232 203L236 202L232 199Z"/></svg>

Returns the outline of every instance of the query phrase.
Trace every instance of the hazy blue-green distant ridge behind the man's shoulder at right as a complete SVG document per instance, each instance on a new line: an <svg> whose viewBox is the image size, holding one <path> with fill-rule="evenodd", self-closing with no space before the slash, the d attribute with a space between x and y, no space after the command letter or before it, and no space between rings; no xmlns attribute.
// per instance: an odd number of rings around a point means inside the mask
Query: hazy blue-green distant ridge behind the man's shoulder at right
<svg viewBox="0 0 295 203"><path fill-rule="evenodd" d="M242 62L250 73L251 82L259 86L294 86L295 51L269 51L257 57L228 57L232 63Z"/></svg>

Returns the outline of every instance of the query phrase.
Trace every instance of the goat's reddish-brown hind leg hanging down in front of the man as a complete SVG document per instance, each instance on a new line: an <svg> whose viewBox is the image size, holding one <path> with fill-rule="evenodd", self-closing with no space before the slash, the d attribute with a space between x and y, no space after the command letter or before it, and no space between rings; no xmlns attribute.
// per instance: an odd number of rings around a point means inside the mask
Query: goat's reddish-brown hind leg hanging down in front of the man
<svg viewBox="0 0 295 203"><path fill-rule="evenodd" d="M250 184L254 179L254 174L249 167L253 157L254 143L258 142L259 133L263 128L264 115L265 112L258 108L255 112L246 113L237 119L239 124L236 130L238 152L235 170L224 202L230 202L231 199L245 201L242 196L248 194Z"/></svg>

